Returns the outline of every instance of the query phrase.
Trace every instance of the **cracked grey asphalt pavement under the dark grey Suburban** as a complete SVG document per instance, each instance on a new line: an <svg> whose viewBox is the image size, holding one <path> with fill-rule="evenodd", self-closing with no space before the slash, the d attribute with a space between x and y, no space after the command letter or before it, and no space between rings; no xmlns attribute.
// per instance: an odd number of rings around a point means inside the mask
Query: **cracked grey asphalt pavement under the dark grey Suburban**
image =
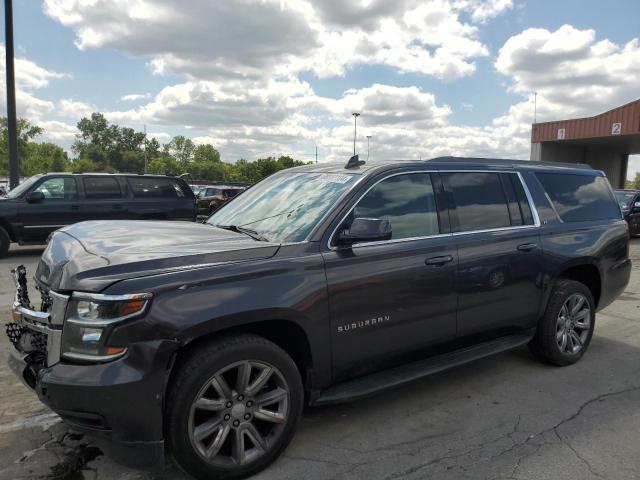
<svg viewBox="0 0 640 480"><path fill-rule="evenodd" d="M576 365L534 361L526 348L373 398L305 412L285 454L255 479L640 479L640 238L626 292L600 312ZM0 260L0 323L11 267ZM10 345L0 335L0 358ZM121 467L69 431L0 360L0 479L187 478Z"/></svg>

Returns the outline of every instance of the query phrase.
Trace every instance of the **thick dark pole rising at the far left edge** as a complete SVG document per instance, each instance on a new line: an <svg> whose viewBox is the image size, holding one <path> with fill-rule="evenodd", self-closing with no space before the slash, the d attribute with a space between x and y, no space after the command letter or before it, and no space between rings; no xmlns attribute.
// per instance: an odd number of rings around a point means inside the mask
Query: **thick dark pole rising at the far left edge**
<svg viewBox="0 0 640 480"><path fill-rule="evenodd" d="M7 71L7 129L9 133L9 189L20 183L18 163L18 124L16 119L16 81L13 66L13 3L4 0L4 47Z"/></svg>

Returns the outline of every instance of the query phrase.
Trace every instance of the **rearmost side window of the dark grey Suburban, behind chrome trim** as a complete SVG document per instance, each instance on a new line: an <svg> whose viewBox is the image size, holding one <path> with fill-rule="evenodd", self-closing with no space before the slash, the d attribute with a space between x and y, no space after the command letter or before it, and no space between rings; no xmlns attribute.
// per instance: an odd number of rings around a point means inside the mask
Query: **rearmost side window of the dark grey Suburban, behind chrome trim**
<svg viewBox="0 0 640 480"><path fill-rule="evenodd" d="M536 176L565 222L620 218L620 209L604 177L561 173Z"/></svg>

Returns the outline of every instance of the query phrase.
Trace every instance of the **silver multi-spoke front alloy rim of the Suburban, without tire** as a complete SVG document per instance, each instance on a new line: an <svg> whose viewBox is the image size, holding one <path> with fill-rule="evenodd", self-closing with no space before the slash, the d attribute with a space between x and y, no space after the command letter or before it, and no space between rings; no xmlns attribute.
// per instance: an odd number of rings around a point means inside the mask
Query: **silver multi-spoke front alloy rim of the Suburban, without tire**
<svg viewBox="0 0 640 480"><path fill-rule="evenodd" d="M246 465L280 438L289 413L289 387L266 362L236 362L216 372L191 406L189 437L216 466Z"/></svg>

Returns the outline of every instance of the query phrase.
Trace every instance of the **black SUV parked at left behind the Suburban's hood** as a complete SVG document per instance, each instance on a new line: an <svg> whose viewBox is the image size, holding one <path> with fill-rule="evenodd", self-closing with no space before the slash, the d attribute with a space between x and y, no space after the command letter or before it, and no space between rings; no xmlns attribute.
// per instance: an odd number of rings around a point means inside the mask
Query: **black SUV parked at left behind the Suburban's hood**
<svg viewBox="0 0 640 480"><path fill-rule="evenodd" d="M195 220L195 197L181 179L157 175L47 173L0 197L0 257L11 242L45 243L83 220Z"/></svg>

